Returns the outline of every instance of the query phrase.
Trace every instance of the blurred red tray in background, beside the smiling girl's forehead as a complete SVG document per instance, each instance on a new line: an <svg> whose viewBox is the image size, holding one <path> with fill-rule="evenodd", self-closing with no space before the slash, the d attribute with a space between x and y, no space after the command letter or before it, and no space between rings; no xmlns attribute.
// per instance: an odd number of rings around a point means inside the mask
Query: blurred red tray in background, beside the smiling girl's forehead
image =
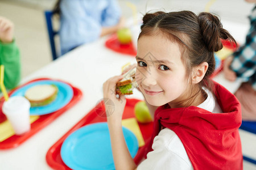
<svg viewBox="0 0 256 170"><path fill-rule="evenodd" d="M105 42L105 45L107 48L118 53L129 54L134 57L137 55L137 50L135 50L133 42L130 42L129 44L120 44L116 33L109 37L109 39Z"/></svg>

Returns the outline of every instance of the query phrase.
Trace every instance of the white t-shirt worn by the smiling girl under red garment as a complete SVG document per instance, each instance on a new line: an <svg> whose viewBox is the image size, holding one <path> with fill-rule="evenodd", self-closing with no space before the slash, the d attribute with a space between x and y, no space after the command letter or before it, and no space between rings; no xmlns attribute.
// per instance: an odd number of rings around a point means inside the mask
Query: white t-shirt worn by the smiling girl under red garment
<svg viewBox="0 0 256 170"><path fill-rule="evenodd" d="M197 107L212 113L222 113L216 97L206 88L207 99ZM138 165L137 169L193 169L183 143L169 128L162 129L154 138L153 151L148 152L147 159Z"/></svg>

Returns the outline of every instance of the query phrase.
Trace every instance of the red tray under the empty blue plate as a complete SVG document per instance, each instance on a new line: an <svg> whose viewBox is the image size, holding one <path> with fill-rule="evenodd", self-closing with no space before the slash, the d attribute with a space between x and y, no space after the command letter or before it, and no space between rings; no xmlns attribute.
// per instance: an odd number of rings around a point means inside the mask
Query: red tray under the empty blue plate
<svg viewBox="0 0 256 170"><path fill-rule="evenodd" d="M134 105L139 101L137 99L126 99L126 107L123 113L123 119L125 118L132 118L134 117ZM59 139L49 150L46 154L46 160L49 166L54 169L70 169L67 165L64 164L63 160L60 156L60 148L64 140L71 134L73 131L81 128L82 126L93 124L96 122L106 122L106 117L100 116L104 115L105 109L102 103L99 103L95 108L93 108L85 117L83 117L73 128L71 128L63 137ZM145 145L140 147L137 155L134 158L136 164L141 162L143 158L144 151L148 142L150 141L152 130L153 130L153 122L148 124L139 124L139 128L142 132L142 136L145 142Z"/></svg>

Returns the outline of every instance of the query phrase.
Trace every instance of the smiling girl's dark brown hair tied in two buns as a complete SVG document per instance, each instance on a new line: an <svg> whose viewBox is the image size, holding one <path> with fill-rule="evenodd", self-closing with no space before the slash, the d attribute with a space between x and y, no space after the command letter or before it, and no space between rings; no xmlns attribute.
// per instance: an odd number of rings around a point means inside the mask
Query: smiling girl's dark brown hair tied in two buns
<svg viewBox="0 0 256 170"><path fill-rule="evenodd" d="M208 87L209 90L213 90L209 77L215 69L214 52L223 47L221 39L236 43L233 36L222 28L217 16L208 12L196 15L191 11L158 11L144 15L139 38L156 33L163 33L164 37L183 47L181 60L187 67L187 76L192 73L193 67L208 63L208 70L199 86Z"/></svg>

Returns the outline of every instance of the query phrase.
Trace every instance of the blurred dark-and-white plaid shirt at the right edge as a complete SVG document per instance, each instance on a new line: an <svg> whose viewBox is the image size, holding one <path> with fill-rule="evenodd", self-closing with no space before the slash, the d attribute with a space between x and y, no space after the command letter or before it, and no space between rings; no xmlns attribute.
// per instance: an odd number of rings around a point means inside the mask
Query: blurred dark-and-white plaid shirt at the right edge
<svg viewBox="0 0 256 170"><path fill-rule="evenodd" d="M246 36L245 45L233 53L234 59L230 68L236 72L238 78L250 82L256 90L256 6L250 19L250 29Z"/></svg>

